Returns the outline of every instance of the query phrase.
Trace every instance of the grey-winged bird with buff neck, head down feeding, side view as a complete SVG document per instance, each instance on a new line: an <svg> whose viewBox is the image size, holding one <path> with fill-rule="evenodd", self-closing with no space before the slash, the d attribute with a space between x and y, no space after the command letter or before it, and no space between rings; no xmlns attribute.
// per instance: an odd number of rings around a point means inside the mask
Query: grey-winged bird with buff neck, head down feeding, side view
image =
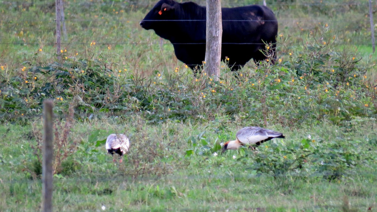
<svg viewBox="0 0 377 212"><path fill-rule="evenodd" d="M238 149L244 145L259 146L261 143L274 138L285 138L285 136L281 132L275 132L269 129L260 127L245 127L236 133L236 140L228 141L224 144L221 154L223 154L227 149Z"/></svg>

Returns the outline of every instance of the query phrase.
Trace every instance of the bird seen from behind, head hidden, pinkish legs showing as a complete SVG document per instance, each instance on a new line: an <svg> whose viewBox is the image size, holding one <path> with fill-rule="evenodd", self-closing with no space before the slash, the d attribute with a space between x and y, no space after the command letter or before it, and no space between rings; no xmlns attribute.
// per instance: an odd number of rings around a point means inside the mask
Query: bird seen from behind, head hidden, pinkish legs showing
<svg viewBox="0 0 377 212"><path fill-rule="evenodd" d="M106 139L106 149L109 154L114 156L114 152L120 155L120 163L122 163L122 156L128 152L130 148L130 141L126 135L111 134ZM113 158L113 161L116 160Z"/></svg>

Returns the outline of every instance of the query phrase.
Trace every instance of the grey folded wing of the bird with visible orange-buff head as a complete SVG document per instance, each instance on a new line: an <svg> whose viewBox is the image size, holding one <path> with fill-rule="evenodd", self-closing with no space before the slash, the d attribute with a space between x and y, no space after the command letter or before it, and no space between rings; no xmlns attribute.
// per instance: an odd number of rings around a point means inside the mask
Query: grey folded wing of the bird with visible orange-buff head
<svg viewBox="0 0 377 212"><path fill-rule="evenodd" d="M269 136L265 129L259 127L246 127L236 134L237 139L244 144L256 144L267 139Z"/></svg>

